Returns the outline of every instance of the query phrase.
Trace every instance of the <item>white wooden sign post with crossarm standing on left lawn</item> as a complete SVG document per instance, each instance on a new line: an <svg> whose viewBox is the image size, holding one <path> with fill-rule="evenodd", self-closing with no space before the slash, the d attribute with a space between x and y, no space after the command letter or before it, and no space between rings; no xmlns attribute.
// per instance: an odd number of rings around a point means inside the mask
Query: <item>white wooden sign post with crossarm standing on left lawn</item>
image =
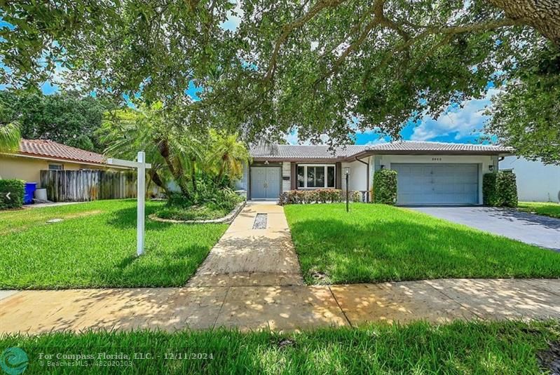
<svg viewBox="0 0 560 375"><path fill-rule="evenodd" d="M139 151L137 161L127 161L109 158L107 164L117 167L136 168L138 171L137 182L137 213L136 213L136 254L144 254L144 212L146 208L146 168L151 168L151 164L146 163L146 153Z"/></svg>

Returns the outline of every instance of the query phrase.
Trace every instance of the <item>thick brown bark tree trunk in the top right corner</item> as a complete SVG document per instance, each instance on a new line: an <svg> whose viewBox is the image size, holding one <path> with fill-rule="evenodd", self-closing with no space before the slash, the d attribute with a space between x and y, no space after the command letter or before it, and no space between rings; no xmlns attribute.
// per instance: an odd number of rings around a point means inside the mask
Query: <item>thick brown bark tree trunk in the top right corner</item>
<svg viewBox="0 0 560 375"><path fill-rule="evenodd" d="M521 20L560 47L559 0L489 0L502 9L507 18Z"/></svg>

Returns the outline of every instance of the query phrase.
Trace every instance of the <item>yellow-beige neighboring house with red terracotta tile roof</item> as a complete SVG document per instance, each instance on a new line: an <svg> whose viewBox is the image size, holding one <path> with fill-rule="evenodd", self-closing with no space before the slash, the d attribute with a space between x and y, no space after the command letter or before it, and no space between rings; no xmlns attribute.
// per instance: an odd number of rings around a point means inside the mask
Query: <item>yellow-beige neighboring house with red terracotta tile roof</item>
<svg viewBox="0 0 560 375"><path fill-rule="evenodd" d="M108 169L101 154L46 139L22 139L15 154L0 154L0 178L41 181L41 170Z"/></svg>

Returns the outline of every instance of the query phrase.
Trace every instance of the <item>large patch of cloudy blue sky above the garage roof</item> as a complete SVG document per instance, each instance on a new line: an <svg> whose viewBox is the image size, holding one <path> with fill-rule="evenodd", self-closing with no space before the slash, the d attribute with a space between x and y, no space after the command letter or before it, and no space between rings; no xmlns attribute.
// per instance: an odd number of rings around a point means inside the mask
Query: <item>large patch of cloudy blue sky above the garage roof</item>
<svg viewBox="0 0 560 375"><path fill-rule="evenodd" d="M479 135L488 116L484 115L484 109L490 104L491 97L498 90L491 89L486 97L478 100L465 102L463 108L449 109L436 120L425 116L420 125L414 128L410 139L415 141L427 141L435 137L455 135L455 140L460 140L469 135Z"/></svg>

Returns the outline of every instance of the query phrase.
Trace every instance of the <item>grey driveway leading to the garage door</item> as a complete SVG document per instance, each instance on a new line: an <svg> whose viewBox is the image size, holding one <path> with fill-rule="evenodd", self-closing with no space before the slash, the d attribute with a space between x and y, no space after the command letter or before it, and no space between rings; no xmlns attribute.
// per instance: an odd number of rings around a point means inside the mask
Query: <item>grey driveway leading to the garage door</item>
<svg viewBox="0 0 560 375"><path fill-rule="evenodd" d="M560 219L495 207L408 207L458 224L560 251Z"/></svg>

